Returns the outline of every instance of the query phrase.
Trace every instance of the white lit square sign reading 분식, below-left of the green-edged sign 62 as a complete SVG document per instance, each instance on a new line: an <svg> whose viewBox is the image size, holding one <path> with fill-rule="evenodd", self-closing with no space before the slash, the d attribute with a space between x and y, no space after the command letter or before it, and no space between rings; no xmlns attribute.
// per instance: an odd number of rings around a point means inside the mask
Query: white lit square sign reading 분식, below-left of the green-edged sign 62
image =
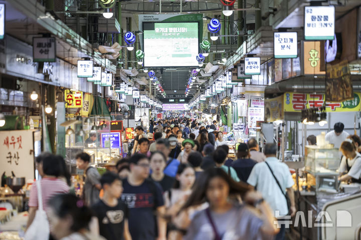
<svg viewBox="0 0 361 240"><path fill-rule="evenodd" d="M297 57L297 32L274 32L273 42L275 58Z"/></svg>

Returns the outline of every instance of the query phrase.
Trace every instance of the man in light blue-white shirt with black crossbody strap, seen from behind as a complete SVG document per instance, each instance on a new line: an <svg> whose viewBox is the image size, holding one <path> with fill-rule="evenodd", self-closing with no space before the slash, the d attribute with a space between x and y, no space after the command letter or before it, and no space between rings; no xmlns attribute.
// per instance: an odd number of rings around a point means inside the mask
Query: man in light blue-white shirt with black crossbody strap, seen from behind
<svg viewBox="0 0 361 240"><path fill-rule="evenodd" d="M288 211L290 211L291 216L293 216L296 213L294 192L292 188L294 181L289 168L285 163L278 161L276 157L276 144L267 143L264 147L264 152L266 155L266 161L259 162L254 165L247 182L248 184L257 187L257 190L262 193L263 198L275 211L276 217L287 215ZM270 168L272 169L273 174L277 177L282 190L278 186ZM287 191L290 199L290 209L287 208L287 201L284 195L285 191ZM280 221L282 222L282 219L280 219ZM275 239L284 239L285 224L280 225L281 229Z"/></svg>

